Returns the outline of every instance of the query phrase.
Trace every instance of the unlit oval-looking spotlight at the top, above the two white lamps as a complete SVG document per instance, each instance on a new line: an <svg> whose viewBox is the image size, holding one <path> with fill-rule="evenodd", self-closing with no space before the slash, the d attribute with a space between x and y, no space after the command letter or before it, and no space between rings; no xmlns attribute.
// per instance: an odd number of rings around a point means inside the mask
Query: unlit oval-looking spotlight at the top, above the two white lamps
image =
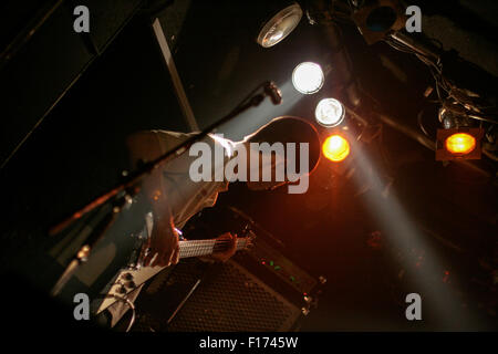
<svg viewBox="0 0 498 354"><path fill-rule="evenodd" d="M277 44L295 29L301 18L302 10L298 3L287 7L262 27L257 42L263 48Z"/></svg>

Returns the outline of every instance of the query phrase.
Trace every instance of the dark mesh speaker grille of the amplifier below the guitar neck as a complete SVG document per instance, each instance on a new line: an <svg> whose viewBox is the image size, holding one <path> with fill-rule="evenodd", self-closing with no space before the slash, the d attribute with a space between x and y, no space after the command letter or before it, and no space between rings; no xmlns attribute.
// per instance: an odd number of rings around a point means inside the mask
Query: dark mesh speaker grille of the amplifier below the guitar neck
<svg viewBox="0 0 498 354"><path fill-rule="evenodd" d="M289 331L301 311L234 261L199 284L172 332Z"/></svg>

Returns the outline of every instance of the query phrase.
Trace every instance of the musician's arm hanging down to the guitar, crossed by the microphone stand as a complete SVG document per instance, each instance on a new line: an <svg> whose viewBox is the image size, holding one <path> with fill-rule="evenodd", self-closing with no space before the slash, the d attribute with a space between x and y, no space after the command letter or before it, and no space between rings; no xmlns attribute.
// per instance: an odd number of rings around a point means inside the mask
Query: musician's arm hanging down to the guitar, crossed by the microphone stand
<svg viewBox="0 0 498 354"><path fill-rule="evenodd" d="M153 132L135 133L127 138L126 144L134 167L136 167L138 160L146 163L162 155L157 134ZM144 266L146 267L166 267L178 262L178 235L174 228L172 209L164 192L163 184L160 168L155 168L142 183L144 195L148 199L154 215L154 228L143 249L151 249L144 258ZM157 257L152 263L151 261L156 253Z"/></svg>

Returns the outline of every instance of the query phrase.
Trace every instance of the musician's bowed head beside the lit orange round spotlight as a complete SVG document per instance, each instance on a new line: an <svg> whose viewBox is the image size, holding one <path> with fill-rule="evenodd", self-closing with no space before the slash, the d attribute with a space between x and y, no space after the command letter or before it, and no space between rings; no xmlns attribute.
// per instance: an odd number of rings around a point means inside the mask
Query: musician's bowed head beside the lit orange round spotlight
<svg viewBox="0 0 498 354"><path fill-rule="evenodd" d="M258 181L248 178L247 185L253 190L274 189L295 181L299 177L310 174L320 159L317 129L298 117L274 118L246 136L245 144L248 150L249 177L259 176ZM258 163L255 164L255 160ZM271 178L268 177L270 171Z"/></svg>

